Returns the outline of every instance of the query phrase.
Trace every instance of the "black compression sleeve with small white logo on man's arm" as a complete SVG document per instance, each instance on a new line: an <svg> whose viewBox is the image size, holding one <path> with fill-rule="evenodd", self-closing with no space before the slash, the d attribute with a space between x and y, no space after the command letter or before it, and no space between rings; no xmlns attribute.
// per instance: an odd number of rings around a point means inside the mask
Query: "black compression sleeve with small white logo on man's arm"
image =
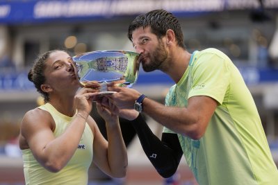
<svg viewBox="0 0 278 185"><path fill-rule="evenodd" d="M174 175L183 155L177 134L163 133L162 139L158 139L141 115L131 124L157 172L164 178Z"/></svg>

